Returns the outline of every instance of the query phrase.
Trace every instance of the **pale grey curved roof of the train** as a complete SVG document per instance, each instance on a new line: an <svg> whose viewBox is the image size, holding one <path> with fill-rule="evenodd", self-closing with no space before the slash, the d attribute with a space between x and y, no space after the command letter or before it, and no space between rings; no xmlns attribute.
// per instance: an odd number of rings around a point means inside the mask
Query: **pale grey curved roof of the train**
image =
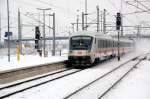
<svg viewBox="0 0 150 99"><path fill-rule="evenodd" d="M93 32L93 31L77 31L74 32L70 35L70 37L72 36L91 36L91 37L96 37L96 38L100 38L100 39L107 39L107 40L113 40L113 41L118 41L117 38L113 38L112 36L108 35L108 34L103 34L102 32ZM129 39L120 39L121 42L133 42Z"/></svg>

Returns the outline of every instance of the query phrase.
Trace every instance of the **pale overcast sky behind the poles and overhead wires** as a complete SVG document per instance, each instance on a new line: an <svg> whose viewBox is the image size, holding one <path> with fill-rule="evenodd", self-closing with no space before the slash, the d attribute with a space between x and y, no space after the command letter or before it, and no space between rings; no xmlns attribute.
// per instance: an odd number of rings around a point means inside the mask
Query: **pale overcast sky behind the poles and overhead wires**
<svg viewBox="0 0 150 99"><path fill-rule="evenodd" d="M81 22L81 12L85 11L85 0L9 0L10 1L10 24L11 31L14 32L14 35L17 36L17 11L18 8L21 11L22 24L26 25L38 25L38 22L33 19L39 19L38 15L29 15L25 16L27 12L30 13L40 13L37 8L51 8L50 11L46 11L49 13L56 13L56 33L57 35L68 35L68 32L72 32L71 24L72 22L76 22L77 14L80 15ZM125 1L127 0L87 0L88 2L88 22L93 22L96 20L96 6L99 5L100 10L107 10L107 23L111 24L115 23L115 17L117 12L121 11L123 14L130 13L134 11L141 11L129 4ZM135 1L135 0L130 0ZM150 2L142 2L145 6L149 7ZM142 5L132 2L134 5L138 5L139 8L147 10ZM77 10L79 10L77 12ZM6 13L6 0L0 0L0 13L2 16L2 33L4 34L7 31L7 13ZM32 17L32 18L31 18ZM40 20L42 21L42 16L40 16ZM141 14L131 14L124 16L124 25L139 25L141 23L148 25L150 22L148 13ZM51 26L52 26L52 18L51 18ZM145 22L146 21L146 22ZM46 16L46 24L49 25L49 17ZM95 26L91 26L92 30L95 30ZM133 32L133 31L132 31ZM49 29L46 28L46 34L49 35ZM23 27L23 36L33 36L34 35L34 27ZM52 32L51 34L52 35Z"/></svg>

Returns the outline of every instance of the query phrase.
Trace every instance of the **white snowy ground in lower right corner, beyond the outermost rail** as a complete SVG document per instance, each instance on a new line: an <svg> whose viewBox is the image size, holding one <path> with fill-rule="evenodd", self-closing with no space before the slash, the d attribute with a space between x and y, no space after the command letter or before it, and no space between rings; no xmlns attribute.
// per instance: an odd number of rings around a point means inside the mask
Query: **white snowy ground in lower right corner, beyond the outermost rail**
<svg viewBox="0 0 150 99"><path fill-rule="evenodd" d="M143 61L103 99L150 99L150 61Z"/></svg>

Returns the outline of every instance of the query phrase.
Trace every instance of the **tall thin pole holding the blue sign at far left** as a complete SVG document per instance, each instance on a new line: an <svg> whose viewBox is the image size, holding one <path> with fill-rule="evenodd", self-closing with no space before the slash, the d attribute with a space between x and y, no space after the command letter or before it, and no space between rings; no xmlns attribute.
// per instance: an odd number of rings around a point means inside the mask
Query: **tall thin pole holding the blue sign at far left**
<svg viewBox="0 0 150 99"><path fill-rule="evenodd" d="M8 19L8 32L10 32L9 26L9 0L7 0L7 19ZM10 62L10 36L8 35L8 62Z"/></svg>

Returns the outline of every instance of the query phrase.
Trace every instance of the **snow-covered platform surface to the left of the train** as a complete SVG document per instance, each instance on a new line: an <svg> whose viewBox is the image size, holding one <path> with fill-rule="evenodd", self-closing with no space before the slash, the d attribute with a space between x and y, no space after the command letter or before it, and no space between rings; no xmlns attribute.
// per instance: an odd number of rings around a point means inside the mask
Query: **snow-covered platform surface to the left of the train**
<svg viewBox="0 0 150 99"><path fill-rule="evenodd" d="M63 54L62 56L48 55L48 57L40 57L38 54L21 55L20 61L17 60L17 56L11 56L10 62L8 62L7 56L3 56L0 58L0 72L11 69L36 66L40 64L60 62L64 60L67 60L67 54Z"/></svg>

